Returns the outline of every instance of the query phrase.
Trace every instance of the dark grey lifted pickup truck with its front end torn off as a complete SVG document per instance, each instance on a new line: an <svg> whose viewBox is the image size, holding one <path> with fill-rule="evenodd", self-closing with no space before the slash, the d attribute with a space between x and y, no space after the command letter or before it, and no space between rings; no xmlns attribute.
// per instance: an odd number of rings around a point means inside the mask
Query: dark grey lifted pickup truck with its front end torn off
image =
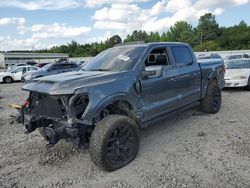
<svg viewBox="0 0 250 188"><path fill-rule="evenodd" d="M196 105L212 114L220 109L223 60L198 63L188 44L123 44L83 68L26 84L24 125L51 146L79 141L106 171L136 157L140 128Z"/></svg>

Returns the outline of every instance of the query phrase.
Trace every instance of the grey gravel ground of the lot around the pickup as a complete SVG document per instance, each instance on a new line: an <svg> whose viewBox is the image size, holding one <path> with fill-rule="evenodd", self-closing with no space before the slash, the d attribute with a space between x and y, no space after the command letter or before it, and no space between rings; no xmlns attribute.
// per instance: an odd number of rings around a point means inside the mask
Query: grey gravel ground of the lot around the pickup
<svg viewBox="0 0 250 188"><path fill-rule="evenodd" d="M250 92L223 91L219 113L192 109L141 130L138 156L112 173L88 150L11 124L22 83L0 84L0 187L250 187Z"/></svg>

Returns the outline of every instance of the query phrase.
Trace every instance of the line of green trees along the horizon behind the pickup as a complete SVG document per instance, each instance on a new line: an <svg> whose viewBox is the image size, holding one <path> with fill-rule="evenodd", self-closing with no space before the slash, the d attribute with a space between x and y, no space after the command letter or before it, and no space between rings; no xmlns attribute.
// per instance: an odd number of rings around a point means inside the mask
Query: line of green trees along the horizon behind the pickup
<svg viewBox="0 0 250 188"><path fill-rule="evenodd" d="M90 44L79 44L75 41L67 45L36 52L68 53L70 57L95 56L103 50L122 42L185 42L195 51L244 50L250 49L250 26L244 21L231 27L220 27L215 16L207 13L200 17L198 25L193 27L185 21L176 22L167 32L147 33L135 30L122 41L119 35L105 41Z"/></svg>

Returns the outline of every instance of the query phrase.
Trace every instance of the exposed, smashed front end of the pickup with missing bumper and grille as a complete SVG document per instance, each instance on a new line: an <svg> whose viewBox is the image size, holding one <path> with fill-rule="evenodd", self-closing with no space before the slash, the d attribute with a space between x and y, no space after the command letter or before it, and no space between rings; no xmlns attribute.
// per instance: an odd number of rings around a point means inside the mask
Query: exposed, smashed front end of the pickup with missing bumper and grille
<svg viewBox="0 0 250 188"><path fill-rule="evenodd" d="M93 129L82 120L88 103L86 94L53 96L32 91L22 110L26 133L39 129L50 146L60 139L77 139L86 146Z"/></svg>

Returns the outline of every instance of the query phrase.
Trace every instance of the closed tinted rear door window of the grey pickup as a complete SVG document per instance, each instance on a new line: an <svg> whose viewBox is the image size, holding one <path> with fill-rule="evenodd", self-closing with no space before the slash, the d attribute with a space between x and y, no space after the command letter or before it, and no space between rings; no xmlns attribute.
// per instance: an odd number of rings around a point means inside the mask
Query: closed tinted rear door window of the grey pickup
<svg viewBox="0 0 250 188"><path fill-rule="evenodd" d="M188 47L173 46L171 51L177 66L187 66L193 64L193 57Z"/></svg>

